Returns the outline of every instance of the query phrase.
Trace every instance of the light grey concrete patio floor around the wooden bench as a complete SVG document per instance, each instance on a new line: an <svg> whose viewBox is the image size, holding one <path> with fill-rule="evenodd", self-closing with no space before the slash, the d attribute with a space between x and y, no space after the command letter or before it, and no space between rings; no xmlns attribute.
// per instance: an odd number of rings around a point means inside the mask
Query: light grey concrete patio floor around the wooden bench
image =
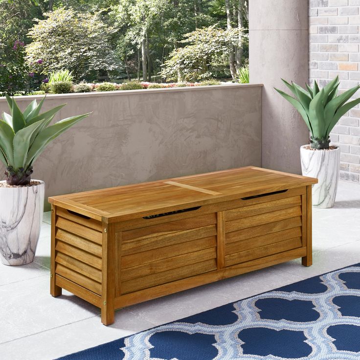
<svg viewBox="0 0 360 360"><path fill-rule="evenodd" d="M339 182L332 209L313 208L314 265L299 259L118 310L104 326L100 311L63 291L49 294L50 216L35 261L0 264L0 359L52 360L301 279L360 262L360 185Z"/></svg>

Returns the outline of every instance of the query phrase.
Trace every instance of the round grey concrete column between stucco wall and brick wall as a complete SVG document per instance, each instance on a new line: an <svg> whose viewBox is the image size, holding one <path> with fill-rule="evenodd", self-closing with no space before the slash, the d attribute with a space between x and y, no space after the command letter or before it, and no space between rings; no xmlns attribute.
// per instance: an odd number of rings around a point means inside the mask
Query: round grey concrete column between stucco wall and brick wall
<svg viewBox="0 0 360 360"><path fill-rule="evenodd" d="M308 1L249 0L250 83L262 83L262 166L301 173L300 145L309 133L300 115L273 88L280 78L308 81Z"/></svg>

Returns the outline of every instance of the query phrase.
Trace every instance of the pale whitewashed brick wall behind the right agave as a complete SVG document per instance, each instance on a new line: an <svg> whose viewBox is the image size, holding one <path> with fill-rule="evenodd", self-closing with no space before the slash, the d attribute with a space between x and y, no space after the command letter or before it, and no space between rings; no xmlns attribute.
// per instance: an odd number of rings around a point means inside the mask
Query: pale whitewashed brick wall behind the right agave
<svg viewBox="0 0 360 360"><path fill-rule="evenodd" d="M321 87L335 76L340 91L360 81L360 0L309 1L309 83ZM358 91L354 98L360 97ZM360 108L341 118L330 134L341 148L340 179L359 182Z"/></svg>

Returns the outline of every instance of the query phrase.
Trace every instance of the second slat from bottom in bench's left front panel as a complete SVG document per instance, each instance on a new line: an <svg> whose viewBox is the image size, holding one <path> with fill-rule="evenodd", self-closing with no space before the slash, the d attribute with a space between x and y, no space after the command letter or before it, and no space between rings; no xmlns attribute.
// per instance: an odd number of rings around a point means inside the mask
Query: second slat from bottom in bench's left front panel
<svg viewBox="0 0 360 360"><path fill-rule="evenodd" d="M121 272L121 280L127 281L135 278L141 278L142 276L181 268L186 265L196 264L205 260L215 258L216 248L208 248L196 252L190 252L188 254L174 256L168 259L155 261L153 263L123 269Z"/></svg>

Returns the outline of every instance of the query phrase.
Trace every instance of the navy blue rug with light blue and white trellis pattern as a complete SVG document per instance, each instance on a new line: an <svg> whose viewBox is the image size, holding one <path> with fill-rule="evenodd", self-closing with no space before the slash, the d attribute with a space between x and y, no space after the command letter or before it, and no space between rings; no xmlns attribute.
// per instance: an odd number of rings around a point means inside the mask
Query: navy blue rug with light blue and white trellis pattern
<svg viewBox="0 0 360 360"><path fill-rule="evenodd" d="M62 360L359 360L360 264Z"/></svg>

